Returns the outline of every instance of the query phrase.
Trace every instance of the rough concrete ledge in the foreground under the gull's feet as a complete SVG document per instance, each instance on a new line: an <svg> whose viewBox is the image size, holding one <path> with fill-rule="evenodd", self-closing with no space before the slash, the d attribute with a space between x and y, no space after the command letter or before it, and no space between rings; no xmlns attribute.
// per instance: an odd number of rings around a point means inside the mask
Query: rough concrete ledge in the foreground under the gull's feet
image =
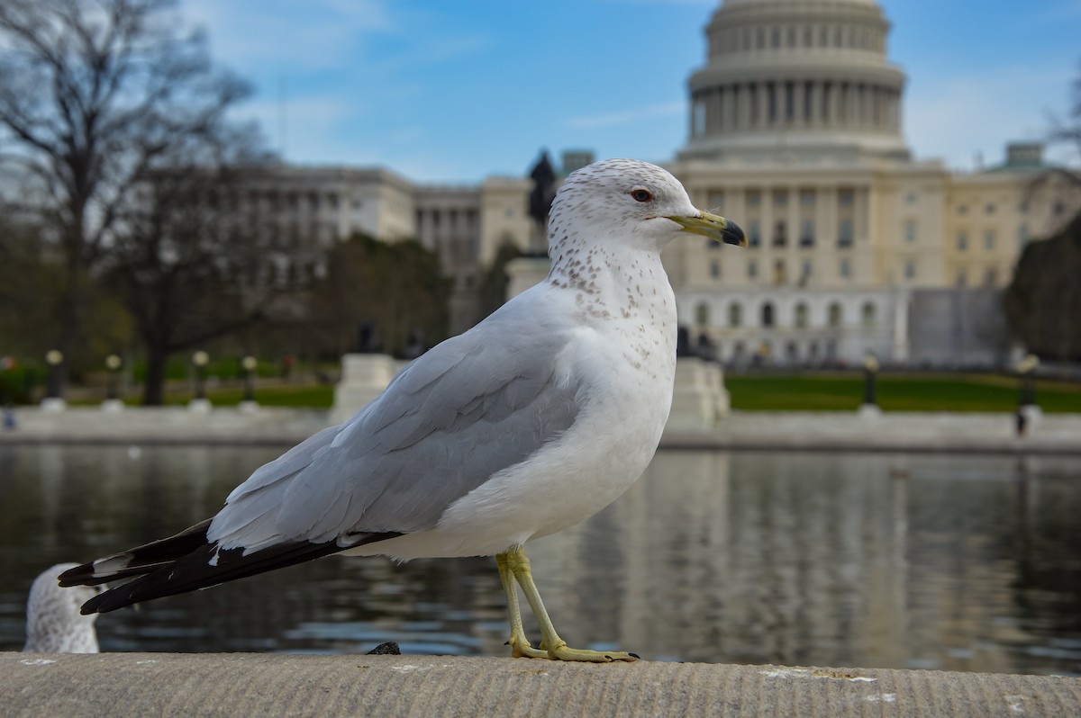
<svg viewBox="0 0 1081 718"><path fill-rule="evenodd" d="M423 655L0 653L5 716L1076 716L1081 679Z"/></svg>

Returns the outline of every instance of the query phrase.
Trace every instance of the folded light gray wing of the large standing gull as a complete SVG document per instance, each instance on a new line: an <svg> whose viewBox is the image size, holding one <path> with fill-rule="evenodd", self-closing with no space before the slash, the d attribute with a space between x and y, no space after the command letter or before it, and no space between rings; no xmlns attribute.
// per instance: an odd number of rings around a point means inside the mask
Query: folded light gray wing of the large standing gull
<svg viewBox="0 0 1081 718"><path fill-rule="evenodd" d="M578 414L579 387L558 371L566 335L504 324L493 315L435 347L348 422L258 469L229 496L208 539L256 550L435 527L453 501Z"/></svg>

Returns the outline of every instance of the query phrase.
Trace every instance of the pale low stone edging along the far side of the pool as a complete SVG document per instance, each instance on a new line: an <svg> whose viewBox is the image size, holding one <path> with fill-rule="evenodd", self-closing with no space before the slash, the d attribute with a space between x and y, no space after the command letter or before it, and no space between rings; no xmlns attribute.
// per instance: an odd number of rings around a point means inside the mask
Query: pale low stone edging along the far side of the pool
<svg viewBox="0 0 1081 718"><path fill-rule="evenodd" d="M326 411L258 407L16 410L4 444L263 445L288 447L330 425ZM709 429L669 422L662 448L1081 455L1081 415L1042 415L1017 436L1011 414L735 411Z"/></svg>

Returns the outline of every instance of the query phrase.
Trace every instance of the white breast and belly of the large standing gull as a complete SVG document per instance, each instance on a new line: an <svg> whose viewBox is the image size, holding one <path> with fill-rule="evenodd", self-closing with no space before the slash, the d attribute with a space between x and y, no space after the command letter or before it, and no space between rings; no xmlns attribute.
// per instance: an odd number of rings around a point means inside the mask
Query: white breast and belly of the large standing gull
<svg viewBox="0 0 1081 718"><path fill-rule="evenodd" d="M565 301L569 292L552 299ZM609 302L609 316L584 322L560 357L569 374L591 382L562 437L455 501L437 528L347 553L400 559L501 553L574 526L627 490L653 458L671 408L675 299L664 282L629 311L613 316L613 307L626 310Z"/></svg>

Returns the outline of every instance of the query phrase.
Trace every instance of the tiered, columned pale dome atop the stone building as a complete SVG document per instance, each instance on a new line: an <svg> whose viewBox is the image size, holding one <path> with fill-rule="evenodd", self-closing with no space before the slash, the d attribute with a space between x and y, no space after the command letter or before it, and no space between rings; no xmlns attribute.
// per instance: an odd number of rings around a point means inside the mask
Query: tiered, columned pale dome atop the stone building
<svg viewBox="0 0 1081 718"><path fill-rule="evenodd" d="M905 74L873 0L725 0L691 76L683 159L905 159Z"/></svg>

